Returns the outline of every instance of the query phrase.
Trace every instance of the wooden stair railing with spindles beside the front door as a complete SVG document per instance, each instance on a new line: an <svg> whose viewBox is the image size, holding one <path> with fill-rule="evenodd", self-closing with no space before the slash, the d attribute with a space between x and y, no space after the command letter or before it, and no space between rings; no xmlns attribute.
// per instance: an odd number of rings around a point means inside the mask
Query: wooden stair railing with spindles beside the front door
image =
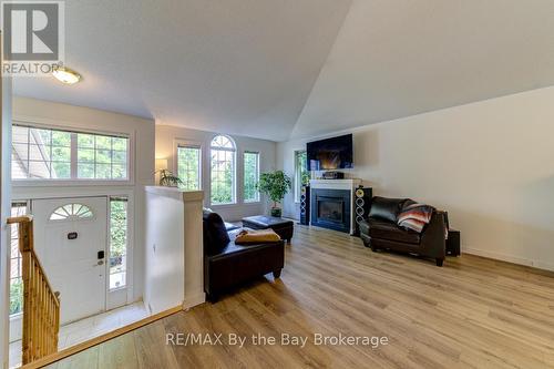
<svg viewBox="0 0 554 369"><path fill-rule="evenodd" d="M60 294L54 293L33 249L31 216L8 218L19 225L19 250L23 277L23 365L58 352Z"/></svg>

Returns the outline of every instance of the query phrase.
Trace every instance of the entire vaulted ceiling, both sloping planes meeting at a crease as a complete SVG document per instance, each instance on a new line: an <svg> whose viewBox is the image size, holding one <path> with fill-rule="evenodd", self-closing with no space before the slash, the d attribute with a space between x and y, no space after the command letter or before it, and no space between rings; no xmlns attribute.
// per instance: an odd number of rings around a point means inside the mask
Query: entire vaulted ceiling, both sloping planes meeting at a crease
<svg viewBox="0 0 554 369"><path fill-rule="evenodd" d="M554 84L551 0L72 0L66 86L14 93L284 141Z"/></svg>

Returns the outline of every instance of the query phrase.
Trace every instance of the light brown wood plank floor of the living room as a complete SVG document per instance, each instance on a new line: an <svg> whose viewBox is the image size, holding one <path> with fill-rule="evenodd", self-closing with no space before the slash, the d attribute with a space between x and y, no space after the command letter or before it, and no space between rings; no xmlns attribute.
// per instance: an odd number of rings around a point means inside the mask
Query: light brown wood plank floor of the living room
<svg viewBox="0 0 554 369"><path fill-rule="evenodd" d="M345 234L295 226L280 280L254 281L51 368L553 368L554 274L464 255L372 253ZM166 334L223 334L224 345L166 345ZM228 334L248 337L228 345ZM256 346L253 335L276 337ZM308 337L304 348L281 334ZM316 346L314 335L389 344ZM213 336L209 336L213 338Z"/></svg>

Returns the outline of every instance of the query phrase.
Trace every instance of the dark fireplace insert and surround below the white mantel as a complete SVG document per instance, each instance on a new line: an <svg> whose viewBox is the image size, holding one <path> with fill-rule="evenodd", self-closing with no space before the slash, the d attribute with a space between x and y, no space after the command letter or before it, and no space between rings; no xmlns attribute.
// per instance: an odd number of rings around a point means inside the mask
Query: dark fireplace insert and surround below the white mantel
<svg viewBox="0 0 554 369"><path fill-rule="evenodd" d="M350 191L315 188L310 203L311 225L350 232Z"/></svg>

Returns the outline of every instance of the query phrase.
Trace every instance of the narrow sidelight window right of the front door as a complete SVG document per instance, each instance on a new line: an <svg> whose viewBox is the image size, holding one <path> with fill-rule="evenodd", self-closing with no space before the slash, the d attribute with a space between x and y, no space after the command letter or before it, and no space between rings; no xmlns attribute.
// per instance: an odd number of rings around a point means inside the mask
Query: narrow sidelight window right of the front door
<svg viewBox="0 0 554 369"><path fill-rule="evenodd" d="M110 198L110 289L126 286L127 198Z"/></svg>

